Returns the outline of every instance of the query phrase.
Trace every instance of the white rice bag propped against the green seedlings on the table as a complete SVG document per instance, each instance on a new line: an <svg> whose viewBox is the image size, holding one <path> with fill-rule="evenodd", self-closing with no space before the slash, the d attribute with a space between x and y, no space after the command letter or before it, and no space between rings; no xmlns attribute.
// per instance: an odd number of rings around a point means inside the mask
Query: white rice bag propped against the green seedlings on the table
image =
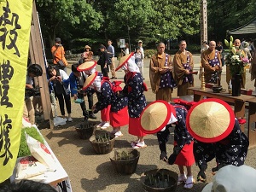
<svg viewBox="0 0 256 192"><path fill-rule="evenodd" d="M44 166L47 166L49 168L48 171L55 172L55 160L52 154L50 154L49 149L43 143L38 142L38 140L27 134L26 143L32 156L43 163Z"/></svg>

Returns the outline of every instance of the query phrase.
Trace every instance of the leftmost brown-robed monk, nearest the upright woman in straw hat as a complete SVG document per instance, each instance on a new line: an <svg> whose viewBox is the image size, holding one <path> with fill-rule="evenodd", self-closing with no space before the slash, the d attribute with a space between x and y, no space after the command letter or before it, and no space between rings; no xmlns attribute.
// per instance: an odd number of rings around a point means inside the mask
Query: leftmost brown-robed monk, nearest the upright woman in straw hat
<svg viewBox="0 0 256 192"><path fill-rule="evenodd" d="M176 87L173 79L171 55L165 53L166 45L157 45L157 53L150 61L149 79L152 91L156 94L156 100L172 101L172 90Z"/></svg>

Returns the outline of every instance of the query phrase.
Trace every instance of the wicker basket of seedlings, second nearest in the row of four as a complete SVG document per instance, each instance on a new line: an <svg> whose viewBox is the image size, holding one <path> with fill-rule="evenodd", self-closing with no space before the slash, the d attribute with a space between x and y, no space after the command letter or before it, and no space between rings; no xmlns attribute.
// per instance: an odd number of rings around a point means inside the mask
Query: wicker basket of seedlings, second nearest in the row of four
<svg viewBox="0 0 256 192"><path fill-rule="evenodd" d="M110 161L115 172L130 175L136 171L140 152L134 148L119 148L111 152Z"/></svg>

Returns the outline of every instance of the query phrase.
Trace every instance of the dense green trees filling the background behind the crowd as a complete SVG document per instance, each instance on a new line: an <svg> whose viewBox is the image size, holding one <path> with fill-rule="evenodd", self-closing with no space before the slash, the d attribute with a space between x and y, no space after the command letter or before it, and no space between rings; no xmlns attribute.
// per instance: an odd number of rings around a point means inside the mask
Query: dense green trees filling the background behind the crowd
<svg viewBox="0 0 256 192"><path fill-rule="evenodd" d="M85 44L106 45L108 38L115 48L116 39L125 38L131 50L138 39L143 40L144 49L155 49L155 44L170 38L185 39L188 44L189 40L199 42L200 5L198 0L37 1L43 36L49 45L58 36L66 50L75 52ZM208 0L208 39L223 42L227 30L253 19L254 8L255 0Z"/></svg>

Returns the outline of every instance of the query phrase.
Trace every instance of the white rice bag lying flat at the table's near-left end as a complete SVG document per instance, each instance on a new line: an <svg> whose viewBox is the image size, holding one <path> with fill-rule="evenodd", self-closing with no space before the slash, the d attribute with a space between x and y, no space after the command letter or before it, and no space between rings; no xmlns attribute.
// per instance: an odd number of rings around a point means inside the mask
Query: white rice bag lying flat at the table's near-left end
<svg viewBox="0 0 256 192"><path fill-rule="evenodd" d="M47 167L32 156L22 157L16 164L17 180L34 177L47 172Z"/></svg>

